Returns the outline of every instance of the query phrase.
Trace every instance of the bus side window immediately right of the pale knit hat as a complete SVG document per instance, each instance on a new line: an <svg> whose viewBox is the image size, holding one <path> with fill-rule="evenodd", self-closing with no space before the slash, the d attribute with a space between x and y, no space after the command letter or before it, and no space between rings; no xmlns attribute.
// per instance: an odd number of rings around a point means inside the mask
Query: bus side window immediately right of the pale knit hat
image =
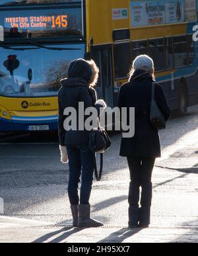
<svg viewBox="0 0 198 256"><path fill-rule="evenodd" d="M149 40L149 55L154 60L156 71L165 69L164 38Z"/></svg>

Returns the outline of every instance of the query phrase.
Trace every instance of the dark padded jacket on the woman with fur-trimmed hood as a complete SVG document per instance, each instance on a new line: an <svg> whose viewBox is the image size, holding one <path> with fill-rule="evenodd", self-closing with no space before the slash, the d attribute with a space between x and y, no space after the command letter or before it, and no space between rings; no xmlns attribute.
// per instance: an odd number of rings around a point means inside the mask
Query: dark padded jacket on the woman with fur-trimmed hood
<svg viewBox="0 0 198 256"><path fill-rule="evenodd" d="M96 91L94 90L94 88L88 87L87 82L82 78L63 79L61 81L61 85L62 87L59 90L58 94L59 144L61 146L87 144L88 132L86 130L70 130L67 132L65 131L63 123L65 121L65 118L67 118L68 116L64 116L63 112L65 108L73 107L77 110L77 120L79 120L79 102L84 103L84 108L94 107L97 100ZM87 117L88 116L84 116L84 120L86 120Z"/></svg>

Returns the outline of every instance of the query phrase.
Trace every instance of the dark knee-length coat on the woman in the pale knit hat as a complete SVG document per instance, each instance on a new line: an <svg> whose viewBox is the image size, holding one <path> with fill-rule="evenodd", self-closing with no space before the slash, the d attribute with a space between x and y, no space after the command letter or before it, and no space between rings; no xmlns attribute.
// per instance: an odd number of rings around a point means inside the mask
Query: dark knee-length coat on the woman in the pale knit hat
<svg viewBox="0 0 198 256"><path fill-rule="evenodd" d="M149 120L152 95L152 77L143 70L137 70L129 83L121 86L118 107L135 107L135 136L121 139L121 156L160 157L158 130ZM170 118L170 108L160 85L155 87L155 100L166 120Z"/></svg>

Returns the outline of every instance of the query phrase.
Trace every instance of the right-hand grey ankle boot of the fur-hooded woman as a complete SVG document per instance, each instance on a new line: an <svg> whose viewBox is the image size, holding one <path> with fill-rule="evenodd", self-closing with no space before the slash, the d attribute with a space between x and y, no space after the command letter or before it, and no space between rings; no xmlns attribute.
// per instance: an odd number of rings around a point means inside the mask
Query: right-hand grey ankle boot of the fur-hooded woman
<svg viewBox="0 0 198 256"><path fill-rule="evenodd" d="M104 226L104 224L90 218L90 204L80 204L78 226L81 228L98 228Z"/></svg>

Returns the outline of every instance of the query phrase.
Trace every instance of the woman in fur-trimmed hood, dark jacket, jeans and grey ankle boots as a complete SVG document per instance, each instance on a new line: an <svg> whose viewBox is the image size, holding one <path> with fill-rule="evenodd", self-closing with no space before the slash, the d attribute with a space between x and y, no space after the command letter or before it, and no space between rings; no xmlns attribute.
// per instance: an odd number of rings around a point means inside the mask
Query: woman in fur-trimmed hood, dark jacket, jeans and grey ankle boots
<svg viewBox="0 0 198 256"><path fill-rule="evenodd" d="M86 120L88 116L81 116L79 103L84 103L84 110L88 107L106 107L104 101L97 101L94 85L98 80L99 69L93 60L74 60L69 65L67 79L61 80L59 90L59 142L62 161L69 161L69 200L73 215L73 226L98 227L102 223L90 218L90 193L94 173L93 153L88 148L89 132L79 128L79 120ZM65 108L75 108L77 112L77 130L65 130L63 124ZM68 157L67 157L68 154ZM82 175L81 195L78 187Z"/></svg>

